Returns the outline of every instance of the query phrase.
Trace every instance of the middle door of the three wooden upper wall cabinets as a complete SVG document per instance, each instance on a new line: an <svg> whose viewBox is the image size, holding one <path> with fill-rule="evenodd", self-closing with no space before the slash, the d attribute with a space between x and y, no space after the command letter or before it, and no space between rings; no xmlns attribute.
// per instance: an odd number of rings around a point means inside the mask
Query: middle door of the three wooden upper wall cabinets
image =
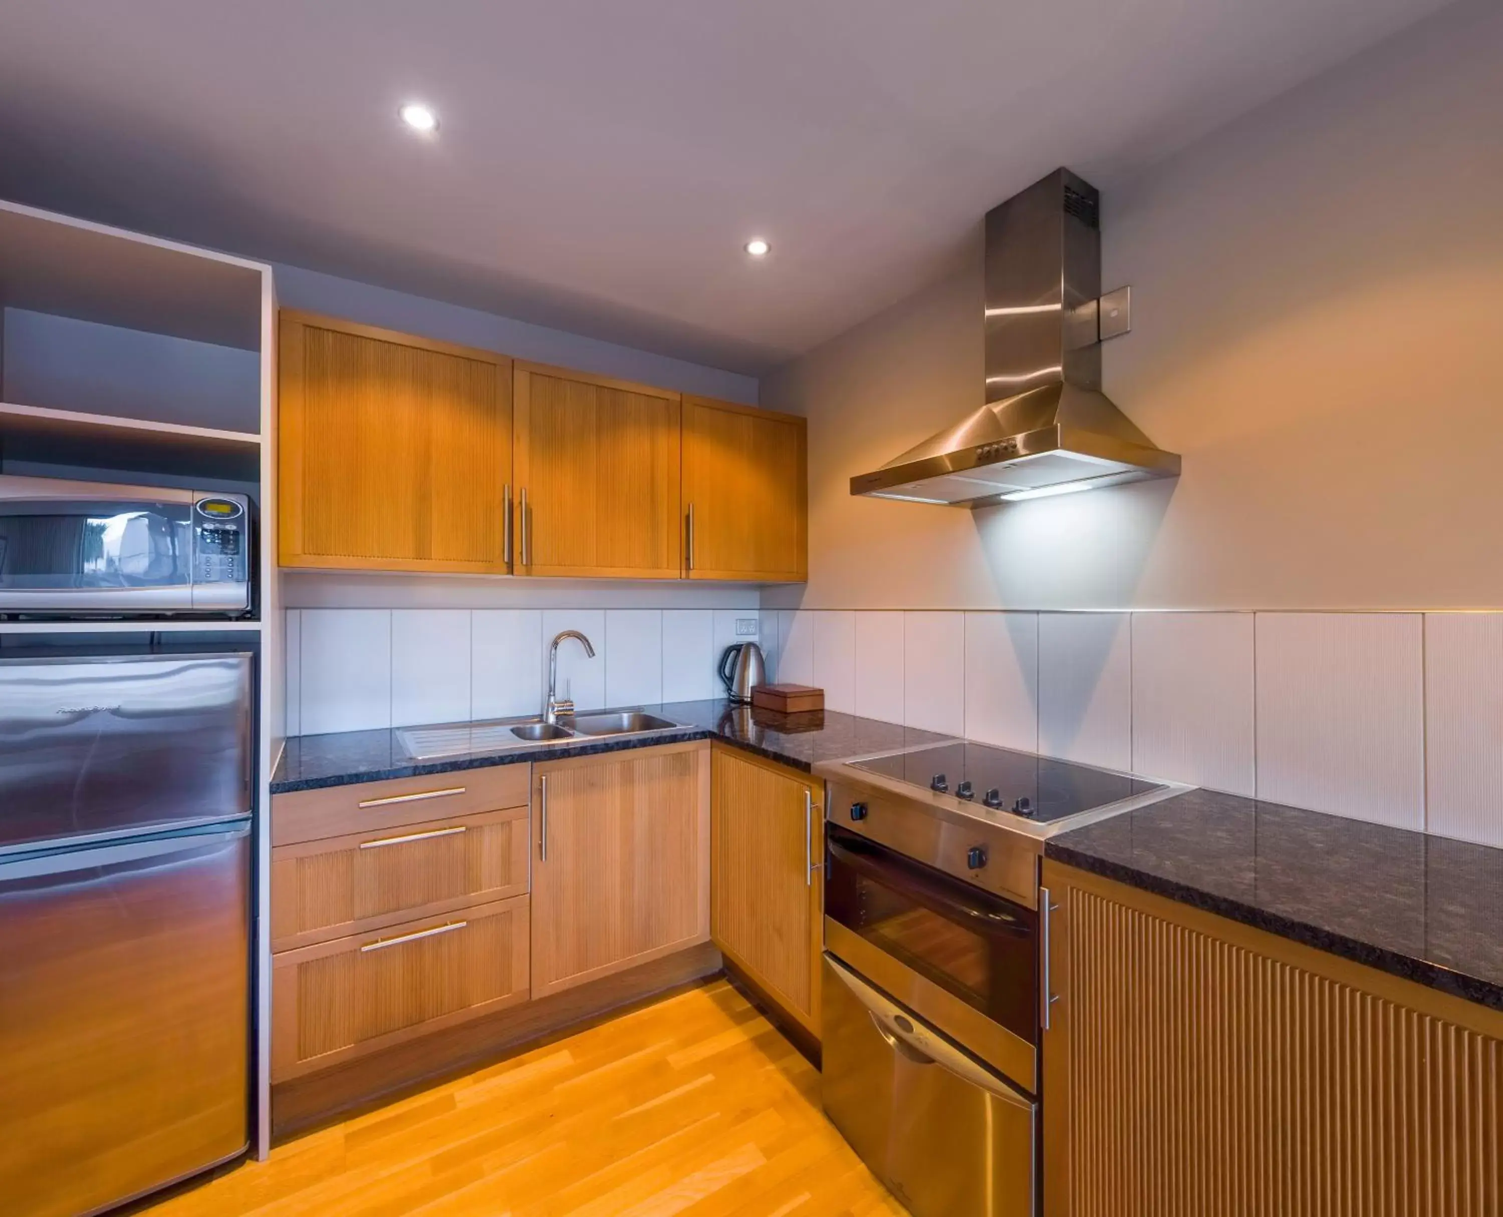
<svg viewBox="0 0 1503 1217"><path fill-rule="evenodd" d="M514 383L517 572L679 578L679 395L538 364Z"/></svg>

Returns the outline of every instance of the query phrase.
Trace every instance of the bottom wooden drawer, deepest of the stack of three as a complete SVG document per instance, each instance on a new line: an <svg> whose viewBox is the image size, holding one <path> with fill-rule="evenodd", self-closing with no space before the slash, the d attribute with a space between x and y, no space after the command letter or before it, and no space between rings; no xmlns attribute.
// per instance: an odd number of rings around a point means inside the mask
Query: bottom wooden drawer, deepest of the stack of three
<svg viewBox="0 0 1503 1217"><path fill-rule="evenodd" d="M272 957L272 1082L528 1001L528 898Z"/></svg>

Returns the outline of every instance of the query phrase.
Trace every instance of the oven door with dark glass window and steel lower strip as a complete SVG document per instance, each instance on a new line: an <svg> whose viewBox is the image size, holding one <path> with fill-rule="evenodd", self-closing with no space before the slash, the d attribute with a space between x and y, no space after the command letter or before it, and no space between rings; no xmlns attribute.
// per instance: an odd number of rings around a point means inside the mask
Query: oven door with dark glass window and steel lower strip
<svg viewBox="0 0 1503 1217"><path fill-rule="evenodd" d="M1037 912L837 825L827 841L831 954L1036 1092Z"/></svg>

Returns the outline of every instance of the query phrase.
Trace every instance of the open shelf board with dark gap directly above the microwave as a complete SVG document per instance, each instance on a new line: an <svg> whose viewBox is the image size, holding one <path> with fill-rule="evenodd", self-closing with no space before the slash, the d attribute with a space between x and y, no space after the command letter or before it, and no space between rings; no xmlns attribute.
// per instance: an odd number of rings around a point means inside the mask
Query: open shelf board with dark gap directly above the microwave
<svg viewBox="0 0 1503 1217"><path fill-rule="evenodd" d="M262 440L245 431L0 403L0 460L253 482Z"/></svg>

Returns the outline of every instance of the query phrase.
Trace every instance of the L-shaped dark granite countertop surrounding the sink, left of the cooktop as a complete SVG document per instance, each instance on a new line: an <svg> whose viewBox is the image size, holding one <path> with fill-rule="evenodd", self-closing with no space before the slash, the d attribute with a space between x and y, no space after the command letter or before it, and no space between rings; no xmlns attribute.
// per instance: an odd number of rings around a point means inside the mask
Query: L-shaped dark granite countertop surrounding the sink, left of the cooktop
<svg viewBox="0 0 1503 1217"><path fill-rule="evenodd" d="M821 760L843 760L948 739L948 736L933 732L878 723L875 718L858 718L854 714L834 711L774 714L752 706L733 706L723 699L670 702L661 706L634 706L633 709L645 709L649 714L682 723L684 727L648 736L603 736L547 745L519 741L505 748L433 760L410 757L397 738L397 729L299 735L287 739L277 772L272 774L272 793L286 795L295 790L317 790L325 786L448 774L493 765L520 765L529 760L561 760L627 748L651 748L687 739L718 739L807 774L813 772L815 765Z"/></svg>

